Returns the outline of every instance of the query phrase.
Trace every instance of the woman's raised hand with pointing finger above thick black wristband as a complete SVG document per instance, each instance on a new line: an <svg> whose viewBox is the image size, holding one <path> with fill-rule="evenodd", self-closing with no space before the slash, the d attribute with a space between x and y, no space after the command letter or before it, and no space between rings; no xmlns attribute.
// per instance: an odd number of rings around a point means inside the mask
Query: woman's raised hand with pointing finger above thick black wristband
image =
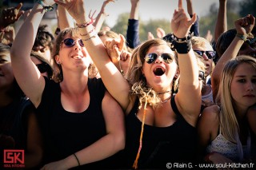
<svg viewBox="0 0 256 170"><path fill-rule="evenodd" d="M178 10L174 10L174 15L170 22L171 30L177 38L185 38L196 19L196 14L193 14L192 18L186 14L182 6L182 0L178 0Z"/></svg>

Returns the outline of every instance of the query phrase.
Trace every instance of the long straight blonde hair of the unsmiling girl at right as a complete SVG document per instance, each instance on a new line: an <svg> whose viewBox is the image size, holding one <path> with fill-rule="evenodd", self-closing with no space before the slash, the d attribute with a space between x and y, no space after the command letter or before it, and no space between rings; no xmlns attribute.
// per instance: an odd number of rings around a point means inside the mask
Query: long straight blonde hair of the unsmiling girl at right
<svg viewBox="0 0 256 170"><path fill-rule="evenodd" d="M235 102L232 97L230 86L234 78L234 73L238 69L238 65L247 63L256 69L256 59L254 57L241 55L228 61L222 71L222 77L219 84L216 101L220 106L219 121L222 135L227 140L238 144L240 156L242 158L242 144L239 140L239 125L235 115Z"/></svg>

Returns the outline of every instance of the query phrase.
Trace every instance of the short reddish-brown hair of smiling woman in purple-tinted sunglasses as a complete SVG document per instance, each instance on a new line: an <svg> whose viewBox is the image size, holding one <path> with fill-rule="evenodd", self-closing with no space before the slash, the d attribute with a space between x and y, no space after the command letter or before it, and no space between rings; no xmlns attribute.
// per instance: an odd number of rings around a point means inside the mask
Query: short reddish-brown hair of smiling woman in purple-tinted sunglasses
<svg viewBox="0 0 256 170"><path fill-rule="evenodd" d="M62 30L58 37L55 40L54 43L54 49L52 52L52 58L54 60L54 75L53 80L56 82L63 81L63 73L62 73L62 65L58 65L55 61L55 56L59 54L59 51L61 49L62 41L64 40L66 35L70 35L72 38L81 38L78 28L66 28L65 30ZM97 69L95 65L90 64L88 68L88 77L95 77L97 74Z"/></svg>

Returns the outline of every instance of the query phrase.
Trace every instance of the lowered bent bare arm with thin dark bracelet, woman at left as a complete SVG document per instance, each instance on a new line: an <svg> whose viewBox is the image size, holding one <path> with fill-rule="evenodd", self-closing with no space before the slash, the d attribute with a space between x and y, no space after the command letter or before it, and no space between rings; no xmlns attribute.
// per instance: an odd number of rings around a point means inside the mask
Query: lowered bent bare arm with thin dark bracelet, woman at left
<svg viewBox="0 0 256 170"><path fill-rule="evenodd" d="M98 160L103 160L114 155L125 147L125 127L124 113L117 101L110 96L110 93L105 94L102 101L102 112L106 122L106 136L94 142L90 146L76 152L78 160L74 155L66 157L50 164L46 164L46 169L68 169L80 164L89 164ZM106 147L107 146L107 147Z"/></svg>

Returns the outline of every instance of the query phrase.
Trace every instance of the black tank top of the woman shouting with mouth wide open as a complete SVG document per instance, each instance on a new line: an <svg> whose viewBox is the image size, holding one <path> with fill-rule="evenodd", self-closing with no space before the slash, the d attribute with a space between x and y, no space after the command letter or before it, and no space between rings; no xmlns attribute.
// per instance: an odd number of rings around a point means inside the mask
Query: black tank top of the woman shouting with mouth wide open
<svg viewBox="0 0 256 170"><path fill-rule="evenodd" d="M120 153L122 168L132 168L139 147L142 122L138 119L138 99L126 117L126 148ZM168 127L144 125L142 150L138 168L166 168L166 163L193 162L196 148L196 129L178 112L174 97L170 101L177 121Z"/></svg>

